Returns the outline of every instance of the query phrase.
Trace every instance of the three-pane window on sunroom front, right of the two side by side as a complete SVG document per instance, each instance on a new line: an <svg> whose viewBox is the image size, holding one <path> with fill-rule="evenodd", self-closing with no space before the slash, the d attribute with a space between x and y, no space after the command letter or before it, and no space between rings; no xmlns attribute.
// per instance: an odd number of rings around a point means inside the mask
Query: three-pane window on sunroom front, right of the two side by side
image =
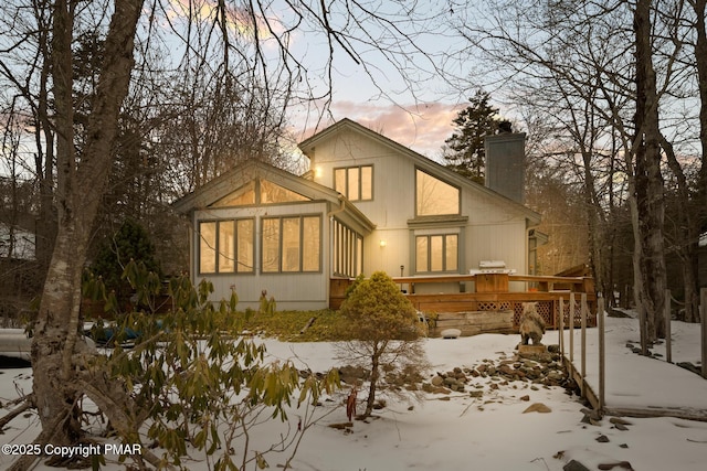
<svg viewBox="0 0 707 471"><path fill-rule="evenodd" d="M262 220L263 272L319 271L321 217Z"/></svg>

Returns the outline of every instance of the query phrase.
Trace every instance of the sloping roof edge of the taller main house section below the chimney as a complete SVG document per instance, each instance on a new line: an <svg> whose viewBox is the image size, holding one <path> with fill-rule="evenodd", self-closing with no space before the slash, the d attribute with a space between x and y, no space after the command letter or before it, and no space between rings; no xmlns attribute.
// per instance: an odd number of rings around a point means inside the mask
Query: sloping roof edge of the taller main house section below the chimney
<svg viewBox="0 0 707 471"><path fill-rule="evenodd" d="M334 125L329 126L328 128L324 129L323 131L317 132L316 135L305 139L299 143L299 149L305 156L314 160L315 159L313 157L314 150L317 147L317 144L325 142L331 138L335 138L344 130L349 130L349 131L359 133L363 138L372 139L378 143L381 143L384 147L390 148L393 152L402 154L408 159L411 159L418 168L433 175L440 176L451 183L454 183L455 185L467 188L467 189L471 189L472 191L485 194L494 200L497 200L499 204L511 206L515 211L518 211L521 214L524 214L524 216L526 217L526 220L530 225L536 225L540 223L540 214L530 210L528 206L520 204L514 200L510 200L502 195L500 193L497 193L484 185L473 182L460 175L458 173L454 172L453 170L450 170L446 167L437 162L434 162L433 160L428 159L421 153L418 153L414 150L405 146L402 146L395 142L394 140L389 139L386 136L382 136L371 129L368 129L367 127L359 125L358 122L349 118L344 118L340 121L337 121Z"/></svg>

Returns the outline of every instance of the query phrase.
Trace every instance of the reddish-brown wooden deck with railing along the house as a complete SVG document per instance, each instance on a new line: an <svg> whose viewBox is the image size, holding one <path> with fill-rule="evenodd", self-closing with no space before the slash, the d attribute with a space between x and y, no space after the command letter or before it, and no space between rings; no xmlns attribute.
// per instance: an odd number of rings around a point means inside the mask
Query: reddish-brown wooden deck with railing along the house
<svg viewBox="0 0 707 471"><path fill-rule="evenodd" d="M331 279L329 307L338 309L345 299L346 288L352 282L348 278ZM587 323L597 325L597 295L590 277L557 277L508 274L440 275L425 277L395 277L412 304L421 312L440 320L456 319L458 313L513 312L513 327L517 329L524 302L537 302L548 329L559 325L560 306L563 323L569 325L570 312L574 324L582 318L581 299L587 299ZM430 292L430 286L444 286L443 292ZM456 292L446 292L453 286ZM471 287L471 290L468 289ZM574 298L574 309L570 309ZM503 331L504 329L500 329Z"/></svg>

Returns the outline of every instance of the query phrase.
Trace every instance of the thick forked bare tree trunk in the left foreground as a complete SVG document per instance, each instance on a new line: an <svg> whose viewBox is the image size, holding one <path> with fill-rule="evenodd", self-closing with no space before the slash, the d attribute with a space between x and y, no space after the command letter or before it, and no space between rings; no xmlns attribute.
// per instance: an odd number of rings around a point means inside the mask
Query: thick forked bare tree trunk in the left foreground
<svg viewBox="0 0 707 471"><path fill-rule="evenodd" d="M81 275L103 184L110 169L118 111L127 95L134 66L133 49L144 0L116 1L105 61L95 93L86 141L74 151L72 103L72 33L75 2L57 0L53 10L53 85L56 103L59 232L42 292L32 343L34 395L43 439L53 443L76 440L74 415L77 389L75 353Z"/></svg>

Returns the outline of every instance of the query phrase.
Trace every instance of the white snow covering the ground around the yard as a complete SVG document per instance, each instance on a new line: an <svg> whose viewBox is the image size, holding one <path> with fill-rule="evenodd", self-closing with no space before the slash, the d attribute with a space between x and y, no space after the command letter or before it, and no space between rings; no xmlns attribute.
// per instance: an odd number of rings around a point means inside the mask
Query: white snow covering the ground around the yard
<svg viewBox="0 0 707 471"><path fill-rule="evenodd" d="M606 318L606 406L648 411L689 410L707 417L707 381L662 360L633 353L626 343L639 345L634 319ZM569 349L569 332L566 350ZM580 367L580 332L574 332L574 364ZM673 322L673 361L699 363L699 324ZM548 332L546 344L558 343L559 333ZM336 365L335 350L328 343L265 342L268 358L292 360L312 371L326 371ZM484 358L513 357L518 335L483 334L455 340L429 339L428 360L435 371L455 366L474 367ZM599 387L598 332L587 333L587 378L594 390ZM654 353L665 355L665 345ZM568 352L569 355L569 352ZM663 356L664 358L665 356ZM18 397L31 388L31 370L2 370L0 400ZM321 414L330 413L310 428L293 461L295 470L562 470L577 460L591 470L599 464L630 462L634 470L705 470L707 467L707 421L674 417L633 418L627 430L620 430L604 417L599 425L581 421L583 404L562 388L532 388L527 382L510 382L496 390L489 378L473 378L484 386L482 398L468 393L428 394L421 403L392 402L377 411L368 422L355 421L351 432L328 427L345 422L340 405L346 390L326 402ZM467 388L469 389L469 388ZM525 395L530 400L521 400ZM359 393L365 398L365 393ZM548 414L524 410L542 403ZM297 411L291 414L296 420ZM13 420L0 443L30 443L38 432L39 420L32 414ZM270 443L285 425L271 420L253 440ZM608 442L597 438L605 436ZM263 445L264 447L264 445ZM257 443L253 447L257 449ZM114 457L117 458L117 457ZM284 463L287 456L268 454L271 468ZM11 457L0 456L0 469ZM187 461L192 470L208 469L205 461ZM104 469L123 469L108 457ZM43 463L36 470L50 470ZM252 468L254 469L254 464ZM616 467L616 470L622 468Z"/></svg>

